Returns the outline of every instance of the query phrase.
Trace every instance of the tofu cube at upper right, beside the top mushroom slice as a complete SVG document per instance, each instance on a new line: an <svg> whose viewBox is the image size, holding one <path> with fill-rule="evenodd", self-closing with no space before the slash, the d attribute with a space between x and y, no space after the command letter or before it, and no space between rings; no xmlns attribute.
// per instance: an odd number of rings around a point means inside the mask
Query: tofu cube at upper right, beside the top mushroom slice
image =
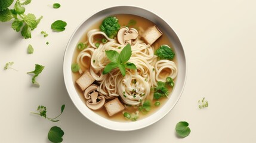
<svg viewBox="0 0 256 143"><path fill-rule="evenodd" d="M152 45L158 38L162 36L162 32L156 26L149 27L141 36L146 43Z"/></svg>

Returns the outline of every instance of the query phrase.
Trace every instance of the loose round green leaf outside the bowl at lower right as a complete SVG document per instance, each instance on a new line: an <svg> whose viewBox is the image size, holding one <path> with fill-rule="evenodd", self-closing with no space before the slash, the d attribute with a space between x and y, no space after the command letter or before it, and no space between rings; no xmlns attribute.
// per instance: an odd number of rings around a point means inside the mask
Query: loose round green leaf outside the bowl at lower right
<svg viewBox="0 0 256 143"><path fill-rule="evenodd" d="M185 138L191 132L191 130L189 128L189 123L187 123L187 122L178 122L175 127L175 130L176 130L177 135L180 136L181 138Z"/></svg>

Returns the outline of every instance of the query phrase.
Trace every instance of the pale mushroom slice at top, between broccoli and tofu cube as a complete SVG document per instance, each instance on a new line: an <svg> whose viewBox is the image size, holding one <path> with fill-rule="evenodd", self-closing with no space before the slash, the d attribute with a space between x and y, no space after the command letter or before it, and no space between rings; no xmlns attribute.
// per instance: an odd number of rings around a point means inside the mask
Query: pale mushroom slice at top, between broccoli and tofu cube
<svg viewBox="0 0 256 143"><path fill-rule="evenodd" d="M122 27L118 31L118 42L121 45L133 44L132 41L138 38L138 31L136 29L128 29L128 27Z"/></svg>

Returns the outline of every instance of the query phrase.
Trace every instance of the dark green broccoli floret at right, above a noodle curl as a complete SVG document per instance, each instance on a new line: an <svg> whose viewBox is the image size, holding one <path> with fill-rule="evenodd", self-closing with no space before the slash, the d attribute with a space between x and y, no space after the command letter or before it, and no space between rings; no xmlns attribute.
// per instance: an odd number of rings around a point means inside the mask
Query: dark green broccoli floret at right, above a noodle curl
<svg viewBox="0 0 256 143"><path fill-rule="evenodd" d="M175 54L168 45L161 45L160 48L156 50L156 55L161 59L172 60Z"/></svg>

